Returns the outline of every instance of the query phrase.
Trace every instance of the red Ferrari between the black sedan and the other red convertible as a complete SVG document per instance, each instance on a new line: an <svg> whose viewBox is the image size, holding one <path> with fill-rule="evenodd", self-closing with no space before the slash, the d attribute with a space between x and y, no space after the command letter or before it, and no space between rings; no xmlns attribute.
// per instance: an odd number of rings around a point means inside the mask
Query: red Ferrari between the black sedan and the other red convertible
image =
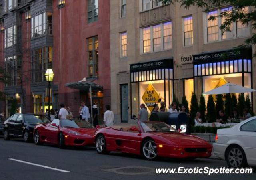
<svg viewBox="0 0 256 180"><path fill-rule="evenodd" d="M51 123L40 124L34 128L34 142L57 144L60 148L94 145L95 130L87 121L54 119Z"/></svg>

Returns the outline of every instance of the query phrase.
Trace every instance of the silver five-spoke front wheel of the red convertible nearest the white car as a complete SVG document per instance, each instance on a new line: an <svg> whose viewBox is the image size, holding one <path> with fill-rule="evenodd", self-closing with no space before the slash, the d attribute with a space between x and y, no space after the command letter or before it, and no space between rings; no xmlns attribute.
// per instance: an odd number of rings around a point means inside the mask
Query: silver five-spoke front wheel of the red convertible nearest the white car
<svg viewBox="0 0 256 180"><path fill-rule="evenodd" d="M145 140L142 144L142 155L147 160L154 160L157 158L157 146L154 140Z"/></svg>

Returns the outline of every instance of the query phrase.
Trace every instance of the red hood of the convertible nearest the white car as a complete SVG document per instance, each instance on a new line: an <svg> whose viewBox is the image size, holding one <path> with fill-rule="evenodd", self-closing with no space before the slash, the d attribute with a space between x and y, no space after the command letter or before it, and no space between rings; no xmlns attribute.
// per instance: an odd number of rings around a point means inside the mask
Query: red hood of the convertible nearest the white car
<svg viewBox="0 0 256 180"><path fill-rule="evenodd" d="M177 144L177 145L190 145L190 146L202 146L202 145L210 145L207 141L197 138L191 135L185 135L182 133L160 133L154 132L152 133L157 136L161 136L166 140Z"/></svg>

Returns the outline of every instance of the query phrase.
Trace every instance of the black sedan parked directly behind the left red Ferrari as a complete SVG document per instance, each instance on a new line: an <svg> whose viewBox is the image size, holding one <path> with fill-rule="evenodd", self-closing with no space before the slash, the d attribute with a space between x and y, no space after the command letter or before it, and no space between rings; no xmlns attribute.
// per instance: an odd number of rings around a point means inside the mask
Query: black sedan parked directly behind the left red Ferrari
<svg viewBox="0 0 256 180"><path fill-rule="evenodd" d="M23 138L28 142L33 137L34 127L40 123L49 123L48 119L38 119L33 114L14 114L4 121L4 140L12 137Z"/></svg>

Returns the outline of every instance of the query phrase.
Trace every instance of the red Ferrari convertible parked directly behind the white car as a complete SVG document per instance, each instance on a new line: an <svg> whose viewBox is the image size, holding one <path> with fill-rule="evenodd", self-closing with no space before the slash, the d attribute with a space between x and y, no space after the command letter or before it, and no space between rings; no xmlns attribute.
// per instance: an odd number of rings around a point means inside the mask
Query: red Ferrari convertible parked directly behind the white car
<svg viewBox="0 0 256 180"><path fill-rule="evenodd" d="M100 128L95 134L99 154L110 151L138 154L148 160L160 157L210 157L212 145L205 140L179 133L163 122L138 122L136 126Z"/></svg>

